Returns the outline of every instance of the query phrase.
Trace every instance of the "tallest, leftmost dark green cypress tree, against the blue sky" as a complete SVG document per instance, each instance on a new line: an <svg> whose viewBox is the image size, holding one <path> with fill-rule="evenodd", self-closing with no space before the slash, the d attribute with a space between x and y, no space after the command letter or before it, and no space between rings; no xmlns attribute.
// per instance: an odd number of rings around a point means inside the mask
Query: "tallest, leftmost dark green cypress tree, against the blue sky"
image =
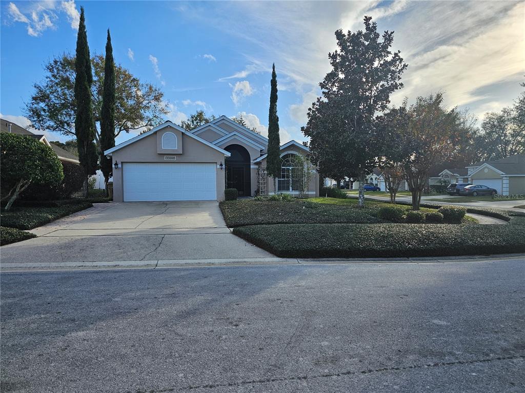
<svg viewBox="0 0 525 393"><path fill-rule="evenodd" d="M88 35L84 8L80 7L80 23L77 35L77 53L75 60L75 134L77 136L78 158L84 169L85 194L88 193L88 178L97 171L97 148L95 145L95 121L91 107L91 61L89 57Z"/></svg>

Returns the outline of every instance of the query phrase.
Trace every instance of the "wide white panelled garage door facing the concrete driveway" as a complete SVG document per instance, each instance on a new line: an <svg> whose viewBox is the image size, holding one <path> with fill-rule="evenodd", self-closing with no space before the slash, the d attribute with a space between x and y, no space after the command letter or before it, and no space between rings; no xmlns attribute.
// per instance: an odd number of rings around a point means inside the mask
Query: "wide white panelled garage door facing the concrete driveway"
<svg viewBox="0 0 525 393"><path fill-rule="evenodd" d="M124 202L214 201L215 163L126 162Z"/></svg>

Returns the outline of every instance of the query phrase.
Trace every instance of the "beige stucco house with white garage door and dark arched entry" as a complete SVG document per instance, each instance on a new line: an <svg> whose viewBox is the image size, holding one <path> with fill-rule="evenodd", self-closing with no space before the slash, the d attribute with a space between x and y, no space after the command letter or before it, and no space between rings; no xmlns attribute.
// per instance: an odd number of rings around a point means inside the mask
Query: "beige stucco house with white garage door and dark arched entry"
<svg viewBox="0 0 525 393"><path fill-rule="evenodd" d="M276 192L266 174L267 147L268 138L220 116L191 132L167 121L104 154L114 162L114 201L220 201L225 188L239 196ZM293 157L308 151L295 140L280 146L278 193L298 194ZM308 195L319 195L318 183L316 173Z"/></svg>

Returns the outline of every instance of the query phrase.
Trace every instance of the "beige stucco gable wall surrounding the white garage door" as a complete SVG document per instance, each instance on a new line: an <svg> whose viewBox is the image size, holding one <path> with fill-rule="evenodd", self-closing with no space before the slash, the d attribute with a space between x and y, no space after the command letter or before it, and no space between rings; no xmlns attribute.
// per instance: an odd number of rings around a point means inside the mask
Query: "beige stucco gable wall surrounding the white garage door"
<svg viewBox="0 0 525 393"><path fill-rule="evenodd" d="M124 198L124 187L122 182L122 171L125 170L127 162L214 162L219 165L220 162L224 165L224 154L194 138L180 133L182 146L184 146L182 154L176 155L176 161L166 161L164 156L171 154L159 154L158 149L158 135L167 131L178 131L171 127L163 128L157 133L146 136L135 143L125 146L113 152L112 161L119 163L118 169L113 169L113 200L122 202ZM123 169L124 168L124 169ZM224 169L217 167L217 200L224 200Z"/></svg>

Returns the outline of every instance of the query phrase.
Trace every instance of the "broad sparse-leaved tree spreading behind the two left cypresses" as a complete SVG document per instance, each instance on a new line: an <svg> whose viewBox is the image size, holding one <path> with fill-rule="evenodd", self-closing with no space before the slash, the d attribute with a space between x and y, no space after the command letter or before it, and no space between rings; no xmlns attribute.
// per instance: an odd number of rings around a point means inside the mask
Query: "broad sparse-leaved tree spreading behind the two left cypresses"
<svg viewBox="0 0 525 393"><path fill-rule="evenodd" d="M95 141L100 149L100 119L104 85L104 57L91 57ZM35 129L75 137L75 57L63 54L45 65L44 80L34 84L35 92L26 104L25 115ZM141 82L131 72L115 64L115 137L137 129L151 129L169 113L164 93Z"/></svg>

